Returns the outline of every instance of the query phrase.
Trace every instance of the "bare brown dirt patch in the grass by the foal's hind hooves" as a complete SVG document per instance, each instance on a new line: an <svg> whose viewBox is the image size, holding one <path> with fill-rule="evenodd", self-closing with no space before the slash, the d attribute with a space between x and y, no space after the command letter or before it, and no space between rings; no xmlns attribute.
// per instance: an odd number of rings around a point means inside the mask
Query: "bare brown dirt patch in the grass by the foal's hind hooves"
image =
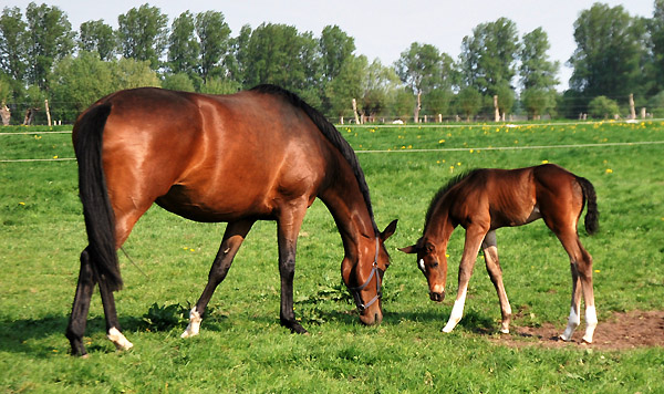
<svg viewBox="0 0 664 394"><path fill-rule="evenodd" d="M564 326L556 328L550 323L539 328L512 326L510 334L496 336L494 341L508 346L583 346L598 350L664 348L664 311L613 313L611 318L600 320L591 344L581 340L585 330L583 322L570 342L558 339L563 330Z"/></svg>

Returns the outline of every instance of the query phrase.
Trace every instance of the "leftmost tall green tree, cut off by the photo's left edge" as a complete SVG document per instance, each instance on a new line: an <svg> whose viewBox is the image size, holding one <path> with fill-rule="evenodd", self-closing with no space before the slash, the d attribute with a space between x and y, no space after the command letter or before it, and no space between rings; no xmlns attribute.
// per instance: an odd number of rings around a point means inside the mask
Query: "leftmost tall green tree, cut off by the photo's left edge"
<svg viewBox="0 0 664 394"><path fill-rule="evenodd" d="M18 7L4 8L0 15L0 71L20 84L28 69L27 56L28 23Z"/></svg>

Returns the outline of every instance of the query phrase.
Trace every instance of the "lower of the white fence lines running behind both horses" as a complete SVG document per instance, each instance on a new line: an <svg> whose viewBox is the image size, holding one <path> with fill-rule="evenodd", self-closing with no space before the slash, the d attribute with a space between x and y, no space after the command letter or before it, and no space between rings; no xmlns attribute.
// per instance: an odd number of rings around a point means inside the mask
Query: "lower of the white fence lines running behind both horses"
<svg viewBox="0 0 664 394"><path fill-rule="evenodd" d="M519 149L561 149L561 148L587 148L605 146L633 146L633 145L661 145L664 141L643 141L635 143L605 143L605 144L575 144L575 145L533 145L533 146L488 146L488 147L463 147L463 148L439 148L439 149L378 149L378 151L355 151L356 154L367 153L432 153L432 152L464 152L464 151L519 151ZM62 158L15 158L0 159L0 163L33 163L33 162L71 162L75 157Z"/></svg>

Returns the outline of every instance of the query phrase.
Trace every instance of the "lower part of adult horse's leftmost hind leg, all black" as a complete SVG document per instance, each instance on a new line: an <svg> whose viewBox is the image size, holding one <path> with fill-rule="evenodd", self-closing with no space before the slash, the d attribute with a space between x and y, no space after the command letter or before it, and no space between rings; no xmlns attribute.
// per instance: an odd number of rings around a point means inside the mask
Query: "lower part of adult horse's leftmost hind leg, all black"
<svg viewBox="0 0 664 394"><path fill-rule="evenodd" d="M72 314L66 326L66 338L70 340L73 355L85 356L87 351L83 345L83 334L90 311L90 300L94 290L94 274L90 262L87 249L81 253L81 271L79 272L79 284L76 286L76 296L72 305Z"/></svg>

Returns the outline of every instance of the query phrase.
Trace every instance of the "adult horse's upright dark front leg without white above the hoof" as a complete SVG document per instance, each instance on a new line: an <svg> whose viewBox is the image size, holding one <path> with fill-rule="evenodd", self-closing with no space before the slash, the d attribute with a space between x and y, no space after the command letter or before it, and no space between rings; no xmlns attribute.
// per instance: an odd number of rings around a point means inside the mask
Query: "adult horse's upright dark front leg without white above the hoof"
<svg viewBox="0 0 664 394"><path fill-rule="evenodd" d="M277 224L279 240L279 274L281 277L281 305L279 318L281 325L298 334L307 333L307 330L295 321L293 309L293 278L295 274L295 250L298 235L302 226L302 219L307 211L307 205L291 207L282 211Z"/></svg>

